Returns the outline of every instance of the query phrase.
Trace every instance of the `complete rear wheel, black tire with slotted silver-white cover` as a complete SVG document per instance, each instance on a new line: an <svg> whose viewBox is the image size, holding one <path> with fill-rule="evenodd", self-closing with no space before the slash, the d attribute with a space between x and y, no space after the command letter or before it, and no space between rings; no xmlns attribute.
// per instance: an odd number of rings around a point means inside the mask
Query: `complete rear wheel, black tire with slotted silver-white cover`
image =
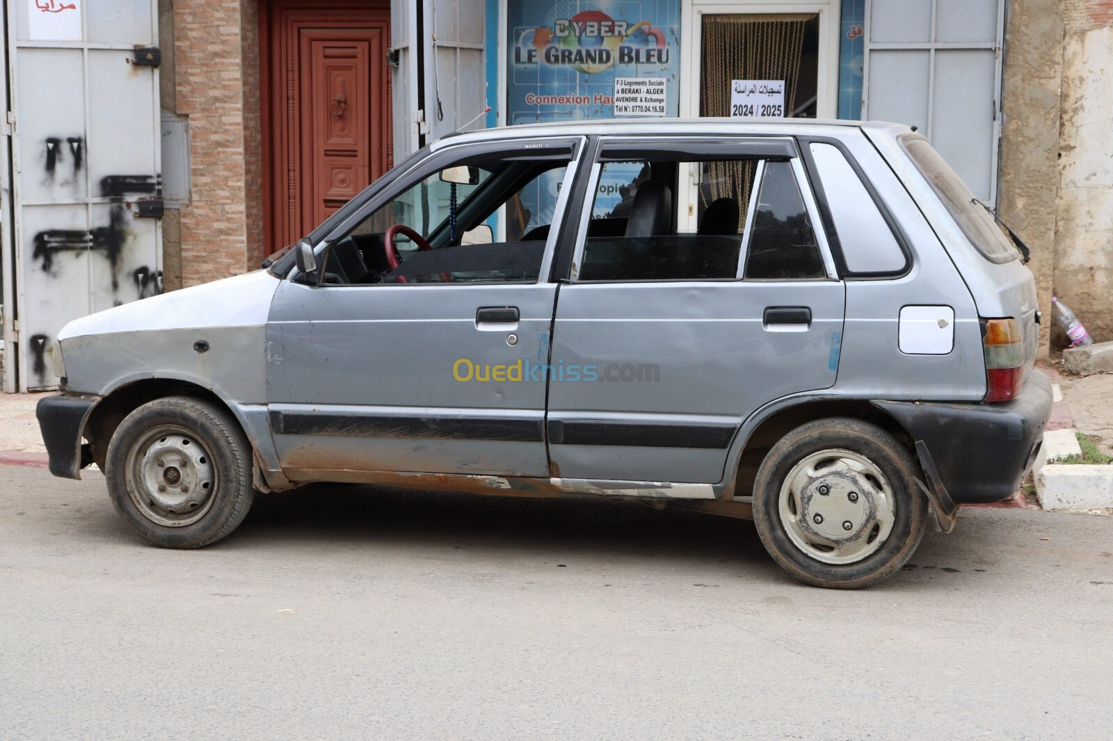
<svg viewBox="0 0 1113 741"><path fill-rule="evenodd" d="M836 455L837 451L865 458L881 478L860 461ZM867 473L850 470L854 465ZM787 482L790 474L792 481ZM908 449L877 425L853 418L818 419L785 435L761 463L754 484L755 525L774 561L801 582L833 589L869 586L896 573L924 536L928 510L916 485L919 476ZM802 487L792 483L801 481L807 482ZM861 514L838 514L823 524L821 511L830 513L833 506L836 513L853 507ZM788 522L782 513L791 515ZM836 525L834 521L843 516L847 518ZM844 542L825 540L838 539L830 533L839 527L851 531ZM829 554L820 552L827 547ZM857 560L826 563L823 557Z"/></svg>

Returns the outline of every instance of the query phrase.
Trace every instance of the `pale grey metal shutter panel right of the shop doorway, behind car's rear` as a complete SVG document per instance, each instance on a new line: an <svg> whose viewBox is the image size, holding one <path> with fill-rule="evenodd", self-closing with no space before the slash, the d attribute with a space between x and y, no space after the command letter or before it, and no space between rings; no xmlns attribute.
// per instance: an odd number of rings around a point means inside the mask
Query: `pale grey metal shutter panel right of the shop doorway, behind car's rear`
<svg viewBox="0 0 1113 741"><path fill-rule="evenodd" d="M919 127L991 205L1003 31L1004 0L866 0L863 118Z"/></svg>

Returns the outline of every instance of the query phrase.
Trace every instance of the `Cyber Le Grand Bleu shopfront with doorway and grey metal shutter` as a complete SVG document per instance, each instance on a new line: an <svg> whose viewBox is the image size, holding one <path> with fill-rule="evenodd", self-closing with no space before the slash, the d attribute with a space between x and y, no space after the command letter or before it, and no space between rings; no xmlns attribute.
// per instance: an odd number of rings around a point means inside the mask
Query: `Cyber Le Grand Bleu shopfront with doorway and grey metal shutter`
<svg viewBox="0 0 1113 741"><path fill-rule="evenodd" d="M1003 0L487 0L486 14L489 126L895 120L996 197Z"/></svg>

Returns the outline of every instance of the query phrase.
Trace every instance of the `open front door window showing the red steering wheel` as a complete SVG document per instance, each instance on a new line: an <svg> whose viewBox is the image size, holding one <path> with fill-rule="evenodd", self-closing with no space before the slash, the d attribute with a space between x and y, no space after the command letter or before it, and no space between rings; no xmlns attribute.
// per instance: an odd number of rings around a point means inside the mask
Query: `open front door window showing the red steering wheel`
<svg viewBox="0 0 1113 741"><path fill-rule="evenodd" d="M333 241L325 283L536 281L572 157L571 144L440 157Z"/></svg>

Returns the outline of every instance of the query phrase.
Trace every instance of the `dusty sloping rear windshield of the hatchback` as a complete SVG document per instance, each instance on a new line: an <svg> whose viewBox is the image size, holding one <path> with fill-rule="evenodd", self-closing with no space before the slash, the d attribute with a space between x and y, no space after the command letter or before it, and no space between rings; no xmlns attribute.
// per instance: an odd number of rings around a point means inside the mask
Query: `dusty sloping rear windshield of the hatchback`
<svg viewBox="0 0 1113 741"><path fill-rule="evenodd" d="M939 200L958 223L963 234L991 263L1008 263L1018 257L1012 243L997 228L993 216L977 202L951 166L932 148L927 139L916 135L900 137L900 146L920 174L932 184Z"/></svg>

